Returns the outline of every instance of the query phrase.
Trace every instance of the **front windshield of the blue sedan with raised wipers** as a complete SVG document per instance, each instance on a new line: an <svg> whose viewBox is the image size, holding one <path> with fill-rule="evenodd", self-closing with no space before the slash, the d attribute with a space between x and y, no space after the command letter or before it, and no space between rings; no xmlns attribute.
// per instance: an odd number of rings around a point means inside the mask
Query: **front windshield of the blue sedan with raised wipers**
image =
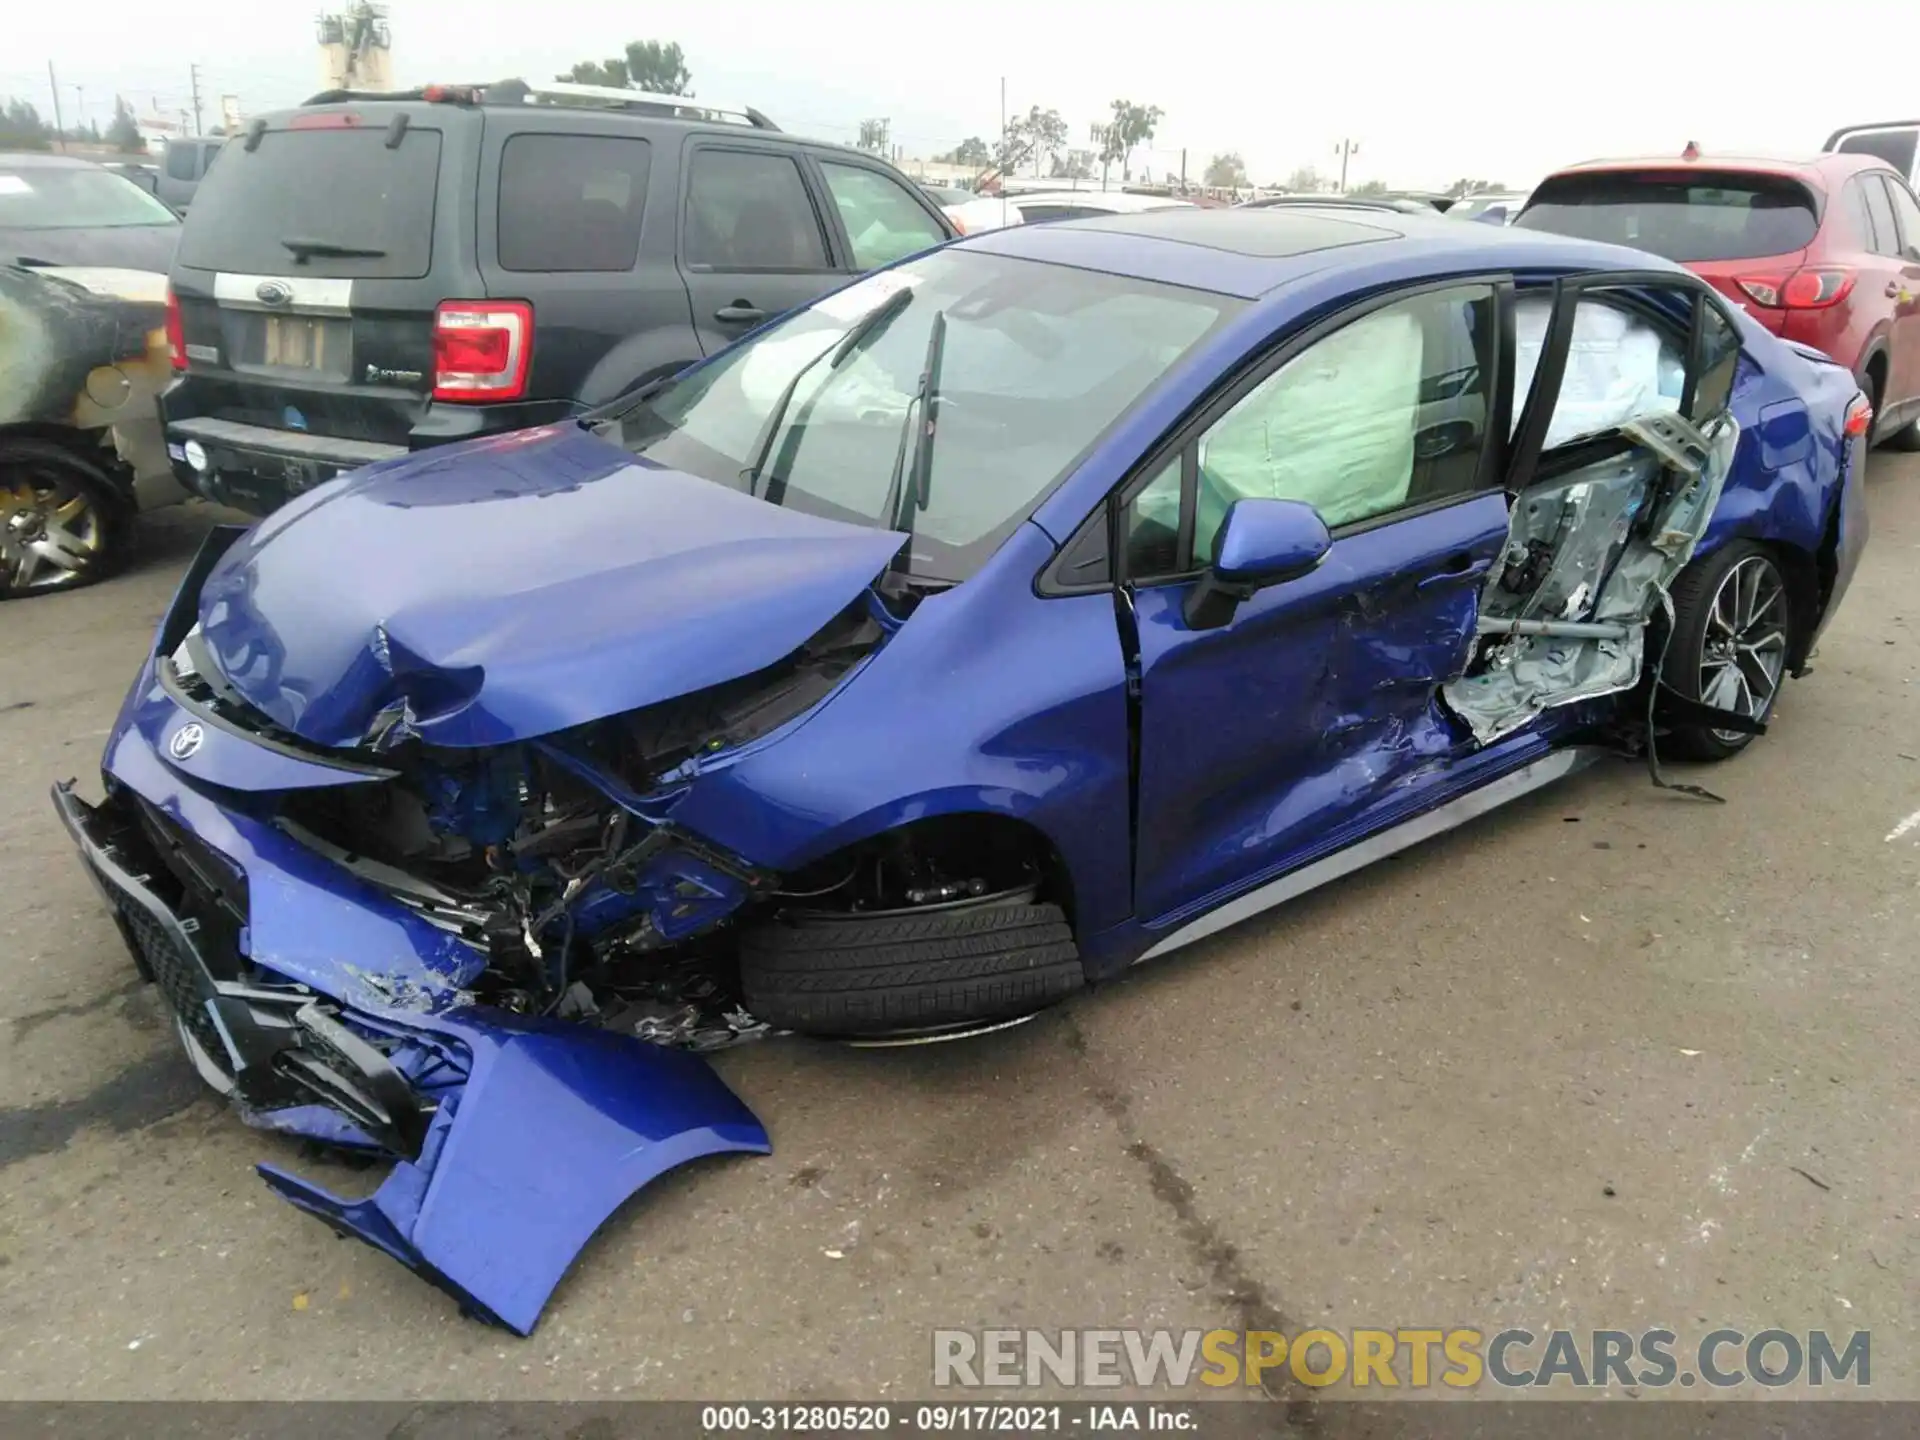
<svg viewBox="0 0 1920 1440"><path fill-rule="evenodd" d="M908 298L895 300L902 290ZM964 580L1108 426L1242 307L1204 290L939 250L693 371L630 413L622 440L660 465L808 515L877 528L904 516L908 570ZM893 480L920 430L916 394L941 315L924 505L900 505Z"/></svg>

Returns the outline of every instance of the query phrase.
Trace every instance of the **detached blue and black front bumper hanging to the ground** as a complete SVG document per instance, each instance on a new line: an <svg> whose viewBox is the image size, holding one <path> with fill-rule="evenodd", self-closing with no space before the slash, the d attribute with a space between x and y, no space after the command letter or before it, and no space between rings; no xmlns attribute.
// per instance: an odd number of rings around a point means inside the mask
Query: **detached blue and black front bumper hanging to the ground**
<svg viewBox="0 0 1920 1440"><path fill-rule="evenodd" d="M766 1154L766 1131L703 1060L578 1023L445 1004L374 1012L263 972L202 924L209 856L161 797L121 787L54 804L200 1073L248 1123L394 1158L365 1200L278 1165L273 1190L386 1252L476 1319L528 1334L574 1256L647 1181L699 1156ZM207 804L198 799L198 804ZM144 814L142 814L144 812ZM246 945L248 895L282 877L259 854L213 899ZM265 874L252 874L252 870ZM238 893L238 895L234 895ZM365 904L342 899L342 904ZM342 960L342 970L349 960Z"/></svg>

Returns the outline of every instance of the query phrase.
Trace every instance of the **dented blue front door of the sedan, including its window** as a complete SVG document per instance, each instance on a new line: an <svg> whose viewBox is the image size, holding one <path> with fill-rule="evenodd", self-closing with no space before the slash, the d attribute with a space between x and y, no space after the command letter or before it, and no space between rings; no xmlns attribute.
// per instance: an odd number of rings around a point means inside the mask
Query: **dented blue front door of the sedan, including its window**
<svg viewBox="0 0 1920 1440"><path fill-rule="evenodd" d="M1511 286L1377 298L1288 342L1121 493L1139 645L1135 914L1175 922L1336 849L1461 747L1440 685L1507 538ZM1300 499L1317 570L1213 630L1183 605L1240 497Z"/></svg>

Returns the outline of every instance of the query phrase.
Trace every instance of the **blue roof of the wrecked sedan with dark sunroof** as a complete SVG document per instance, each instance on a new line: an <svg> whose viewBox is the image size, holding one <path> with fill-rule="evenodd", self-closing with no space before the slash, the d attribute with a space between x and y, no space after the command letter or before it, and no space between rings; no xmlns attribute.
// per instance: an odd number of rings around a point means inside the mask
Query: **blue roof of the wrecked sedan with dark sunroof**
<svg viewBox="0 0 1920 1440"><path fill-rule="evenodd" d="M1016 225L956 242L1018 259L1073 265L1162 284L1258 300L1317 271L1375 261L1415 269L1672 269L1668 261L1594 240L1465 225L1434 215L1275 205L1271 209L1164 209L1052 225Z"/></svg>

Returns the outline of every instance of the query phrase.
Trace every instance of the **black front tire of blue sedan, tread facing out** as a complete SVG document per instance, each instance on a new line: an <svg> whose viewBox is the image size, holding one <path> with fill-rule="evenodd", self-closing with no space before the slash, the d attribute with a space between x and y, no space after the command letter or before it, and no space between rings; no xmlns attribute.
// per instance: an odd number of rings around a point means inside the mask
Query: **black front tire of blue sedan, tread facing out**
<svg viewBox="0 0 1920 1440"><path fill-rule="evenodd" d="M1058 904L981 899L877 914L789 914L741 935L747 1010L822 1037L1012 1020L1085 983Z"/></svg>

